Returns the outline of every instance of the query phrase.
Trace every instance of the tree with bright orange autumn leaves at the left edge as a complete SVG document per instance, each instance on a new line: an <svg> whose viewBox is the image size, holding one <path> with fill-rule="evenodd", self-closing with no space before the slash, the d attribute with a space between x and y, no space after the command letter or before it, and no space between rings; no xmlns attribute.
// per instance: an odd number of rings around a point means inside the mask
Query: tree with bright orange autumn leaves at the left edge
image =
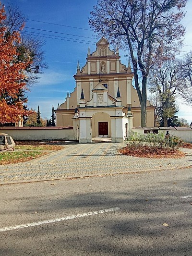
<svg viewBox="0 0 192 256"><path fill-rule="evenodd" d="M16 104L10 104L9 98L18 98L19 91L25 89L23 82L27 76L25 69L31 64L30 57L19 60L16 44L20 42L20 31L9 31L4 24L6 13L0 3L0 123L17 122L26 111Z"/></svg>

